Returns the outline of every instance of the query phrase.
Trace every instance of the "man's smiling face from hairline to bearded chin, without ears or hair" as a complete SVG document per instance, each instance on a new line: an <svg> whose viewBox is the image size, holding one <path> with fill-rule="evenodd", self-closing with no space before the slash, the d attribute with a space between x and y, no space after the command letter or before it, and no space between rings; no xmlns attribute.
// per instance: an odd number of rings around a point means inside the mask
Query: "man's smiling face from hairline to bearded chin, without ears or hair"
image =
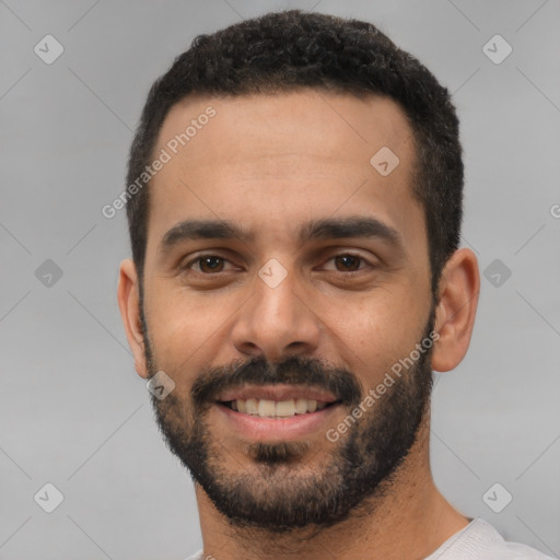
<svg viewBox="0 0 560 560"><path fill-rule="evenodd" d="M370 163L383 147L389 174ZM415 349L434 307L406 118L313 91L190 98L162 149L141 310L147 374L175 383L153 397L160 429L232 522L340 522L390 485L427 417Z"/></svg>

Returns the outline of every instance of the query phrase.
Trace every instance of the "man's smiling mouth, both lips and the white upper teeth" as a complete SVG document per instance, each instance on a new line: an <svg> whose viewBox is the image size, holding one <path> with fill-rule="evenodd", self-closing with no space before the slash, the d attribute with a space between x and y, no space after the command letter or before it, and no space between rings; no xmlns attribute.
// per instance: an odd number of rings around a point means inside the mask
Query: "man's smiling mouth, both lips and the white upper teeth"
<svg viewBox="0 0 560 560"><path fill-rule="evenodd" d="M310 436L328 428L342 401L329 393L289 385L245 386L219 395L215 405L236 435L254 441Z"/></svg>

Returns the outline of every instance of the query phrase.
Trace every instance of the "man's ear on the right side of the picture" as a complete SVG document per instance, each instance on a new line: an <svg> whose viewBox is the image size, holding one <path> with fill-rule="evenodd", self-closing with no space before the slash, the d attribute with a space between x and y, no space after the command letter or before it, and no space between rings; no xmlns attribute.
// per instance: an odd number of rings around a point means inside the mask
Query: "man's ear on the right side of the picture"
<svg viewBox="0 0 560 560"><path fill-rule="evenodd" d="M456 250L445 264L438 290L432 370L447 372L467 353L480 292L477 257L469 248Z"/></svg>

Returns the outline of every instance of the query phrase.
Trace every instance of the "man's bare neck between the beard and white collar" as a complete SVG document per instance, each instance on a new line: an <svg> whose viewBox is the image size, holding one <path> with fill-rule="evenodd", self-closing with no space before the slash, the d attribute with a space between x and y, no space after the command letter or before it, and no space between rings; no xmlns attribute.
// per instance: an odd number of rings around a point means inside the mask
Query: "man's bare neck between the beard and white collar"
<svg viewBox="0 0 560 560"><path fill-rule="evenodd" d="M203 558L217 560L420 560L468 525L434 485L429 462L429 420L390 482L359 511L328 528L305 527L278 535L240 528L196 485Z"/></svg>

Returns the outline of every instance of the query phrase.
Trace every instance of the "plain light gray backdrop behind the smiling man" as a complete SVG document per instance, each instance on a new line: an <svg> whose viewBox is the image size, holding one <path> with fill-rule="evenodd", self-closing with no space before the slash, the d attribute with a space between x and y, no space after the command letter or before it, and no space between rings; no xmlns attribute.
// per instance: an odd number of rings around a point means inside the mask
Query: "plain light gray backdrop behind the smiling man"
<svg viewBox="0 0 560 560"><path fill-rule="evenodd" d="M481 272L500 259L511 277L482 276L468 355L436 375L434 477L464 513L560 555L559 2L5 0L1 559L182 559L201 546L190 479L158 433L118 313L125 212L101 209L125 187L148 88L173 58L199 33L284 8L370 20L454 92L463 242ZM65 48L51 65L34 52L47 34ZM495 34L513 47L500 65L482 51ZM47 259L62 272L50 284ZM65 497L50 514L34 501L47 482ZM501 513L482 500L495 482L513 495Z"/></svg>

